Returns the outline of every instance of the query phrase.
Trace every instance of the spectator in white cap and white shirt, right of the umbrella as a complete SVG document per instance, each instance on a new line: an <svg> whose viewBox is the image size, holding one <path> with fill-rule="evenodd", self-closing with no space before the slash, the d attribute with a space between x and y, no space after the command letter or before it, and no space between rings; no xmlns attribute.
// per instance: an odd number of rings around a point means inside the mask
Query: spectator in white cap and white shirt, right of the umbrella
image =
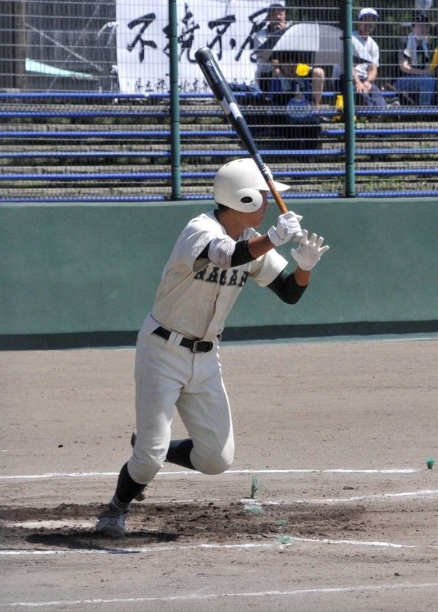
<svg viewBox="0 0 438 612"><path fill-rule="evenodd" d="M359 106L385 106L385 97L375 84L379 68L380 49L371 34L378 14L375 9L362 9L358 16L358 29L353 31L353 85ZM343 66L333 67L335 88L343 93Z"/></svg>

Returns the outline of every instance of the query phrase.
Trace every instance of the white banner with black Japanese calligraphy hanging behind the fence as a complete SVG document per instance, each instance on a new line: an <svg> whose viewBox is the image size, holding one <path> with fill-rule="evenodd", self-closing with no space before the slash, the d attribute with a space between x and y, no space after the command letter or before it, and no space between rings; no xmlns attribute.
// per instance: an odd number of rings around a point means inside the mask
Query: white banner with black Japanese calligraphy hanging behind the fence
<svg viewBox="0 0 438 612"><path fill-rule="evenodd" d="M117 61L122 93L169 89L168 0L116 0ZM271 0L178 0L179 88L208 91L194 59L208 46L230 83L254 83L252 36L266 22Z"/></svg>

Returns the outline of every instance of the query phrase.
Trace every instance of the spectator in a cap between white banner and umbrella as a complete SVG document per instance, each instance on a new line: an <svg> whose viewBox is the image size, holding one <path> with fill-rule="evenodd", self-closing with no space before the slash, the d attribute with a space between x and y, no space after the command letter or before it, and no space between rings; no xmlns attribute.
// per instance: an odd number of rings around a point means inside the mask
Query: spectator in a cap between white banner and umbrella
<svg viewBox="0 0 438 612"><path fill-rule="evenodd" d="M257 58L256 83L264 93L271 92L272 48L289 26L291 22L287 20L286 7L281 2L276 2L268 6L266 26L254 34L254 50Z"/></svg>

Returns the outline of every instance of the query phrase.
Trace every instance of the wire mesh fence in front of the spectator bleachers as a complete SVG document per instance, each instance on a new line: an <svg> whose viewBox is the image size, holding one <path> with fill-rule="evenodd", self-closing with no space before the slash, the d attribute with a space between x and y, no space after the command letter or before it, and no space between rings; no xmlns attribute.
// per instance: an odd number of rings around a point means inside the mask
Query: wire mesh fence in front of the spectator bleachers
<svg viewBox="0 0 438 612"><path fill-rule="evenodd" d="M1 1L1 199L172 199L174 172L182 199L211 196L217 168L246 152L194 60L201 46L293 196L345 195L352 132L356 194L438 194L438 6L353 3L348 125L350 3L270 4L177 1L175 168L168 1ZM269 29L276 11L280 33Z"/></svg>

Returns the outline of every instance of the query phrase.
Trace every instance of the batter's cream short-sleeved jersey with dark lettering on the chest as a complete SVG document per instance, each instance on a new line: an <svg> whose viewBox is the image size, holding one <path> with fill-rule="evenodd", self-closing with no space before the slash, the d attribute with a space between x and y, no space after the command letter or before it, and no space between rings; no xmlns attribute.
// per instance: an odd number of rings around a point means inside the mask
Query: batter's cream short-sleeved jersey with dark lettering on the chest
<svg viewBox="0 0 438 612"><path fill-rule="evenodd" d="M286 268L287 260L276 250L229 269L221 269L209 260L197 260L213 238L225 236L214 211L187 223L165 265L152 306L152 317L160 325L187 337L212 340L224 329L247 278L266 287ZM260 234L247 228L239 241L254 236Z"/></svg>

